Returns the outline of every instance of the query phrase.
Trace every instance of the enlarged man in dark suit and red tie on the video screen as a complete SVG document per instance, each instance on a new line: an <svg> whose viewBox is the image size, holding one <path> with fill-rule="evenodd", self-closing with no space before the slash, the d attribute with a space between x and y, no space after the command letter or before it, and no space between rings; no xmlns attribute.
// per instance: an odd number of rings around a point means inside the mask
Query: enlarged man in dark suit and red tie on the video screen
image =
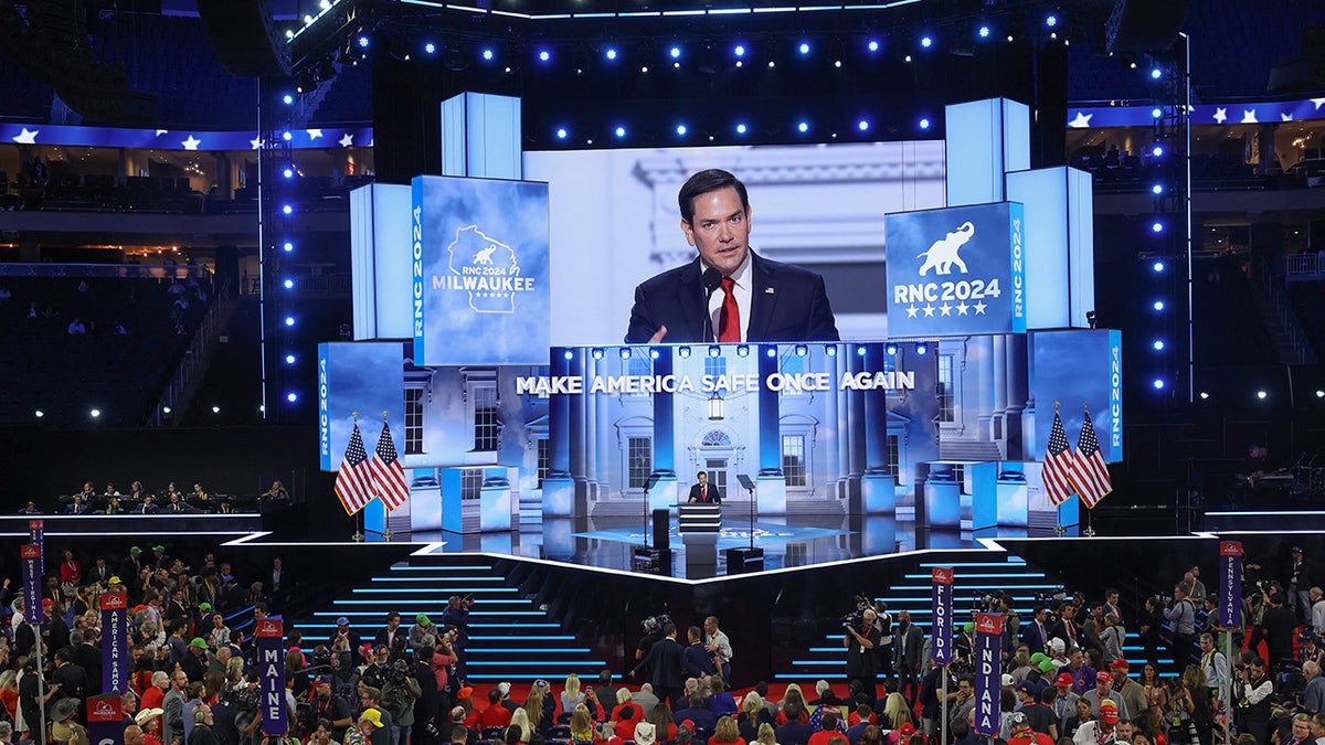
<svg viewBox="0 0 1325 745"><path fill-rule="evenodd" d="M698 256L635 288L625 343L839 341L823 277L750 251L750 199L739 179L700 171L677 201Z"/></svg>

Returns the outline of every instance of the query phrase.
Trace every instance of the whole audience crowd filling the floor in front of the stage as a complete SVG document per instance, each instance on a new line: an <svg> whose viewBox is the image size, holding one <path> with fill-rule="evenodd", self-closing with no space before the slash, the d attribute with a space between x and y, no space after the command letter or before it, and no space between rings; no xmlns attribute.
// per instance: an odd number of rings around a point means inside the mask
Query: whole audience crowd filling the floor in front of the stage
<svg viewBox="0 0 1325 745"><path fill-rule="evenodd" d="M40 610L29 614L21 598L5 607L0 742L89 745L82 704L111 693L126 745L1212 745L1226 720L1240 745L1325 744L1316 626L1325 598L1306 586L1310 566L1296 547L1288 585L1247 563L1246 624L1236 628L1208 612L1215 598L1195 566L1143 611L1106 590L1097 602L1060 594L1023 620L1006 594L983 598L980 611L1004 616L992 736L975 726L973 626L954 630L954 661L934 665L933 636L905 610L894 622L868 595L843 619L845 689L820 680L812 695L790 684L779 696L766 683L730 688L733 644L716 616L685 627L682 644L666 615L645 620L620 680L604 669L594 685L572 673L559 691L546 680L478 691L466 672L473 598L456 595L436 622L388 612L382 626L360 630L342 616L326 639L288 627L288 724L269 738L249 630L293 581L278 558L248 585L213 553L196 565L162 545L132 546L118 562L93 557L86 567L64 551L48 567ZM7 581L0 593L11 591ZM130 618L130 683L113 692L102 691L99 651L106 591L127 594ZM1129 622L1143 647L1132 660L1122 642Z"/></svg>

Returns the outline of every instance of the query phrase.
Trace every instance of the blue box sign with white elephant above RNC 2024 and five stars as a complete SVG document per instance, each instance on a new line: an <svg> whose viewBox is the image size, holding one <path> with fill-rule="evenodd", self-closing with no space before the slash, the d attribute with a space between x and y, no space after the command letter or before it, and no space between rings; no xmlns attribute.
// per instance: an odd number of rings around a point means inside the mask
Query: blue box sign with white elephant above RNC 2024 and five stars
<svg viewBox="0 0 1325 745"><path fill-rule="evenodd" d="M888 215L888 335L1026 330L1022 205Z"/></svg>

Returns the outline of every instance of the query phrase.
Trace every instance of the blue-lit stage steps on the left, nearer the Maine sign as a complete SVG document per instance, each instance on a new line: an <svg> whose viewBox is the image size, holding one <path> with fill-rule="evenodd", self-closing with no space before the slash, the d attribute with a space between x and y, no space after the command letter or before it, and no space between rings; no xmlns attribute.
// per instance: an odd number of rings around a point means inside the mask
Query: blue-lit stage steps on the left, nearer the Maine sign
<svg viewBox="0 0 1325 745"><path fill-rule="evenodd" d="M484 555L416 555L398 563L370 582L323 603L311 616L298 619L306 647L329 639L335 619L346 616L363 642L386 624L387 612L400 614L408 630L415 616L427 614L433 623L450 595L474 595L469 614L468 677L474 683L501 680L564 679L567 673L596 677L607 667L562 630L546 607L538 607L504 577L498 559Z"/></svg>

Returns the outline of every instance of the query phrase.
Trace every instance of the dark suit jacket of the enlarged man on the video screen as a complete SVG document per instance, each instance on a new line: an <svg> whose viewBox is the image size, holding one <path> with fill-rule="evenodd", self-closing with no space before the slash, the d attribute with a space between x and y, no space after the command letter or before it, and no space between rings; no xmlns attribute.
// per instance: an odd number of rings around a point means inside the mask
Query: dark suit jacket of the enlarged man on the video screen
<svg viewBox="0 0 1325 745"><path fill-rule="evenodd" d="M747 342L836 342L824 280L819 274L750 252ZM669 269L635 288L625 343L645 343L666 326L666 343L716 341L704 297L700 258Z"/></svg>

